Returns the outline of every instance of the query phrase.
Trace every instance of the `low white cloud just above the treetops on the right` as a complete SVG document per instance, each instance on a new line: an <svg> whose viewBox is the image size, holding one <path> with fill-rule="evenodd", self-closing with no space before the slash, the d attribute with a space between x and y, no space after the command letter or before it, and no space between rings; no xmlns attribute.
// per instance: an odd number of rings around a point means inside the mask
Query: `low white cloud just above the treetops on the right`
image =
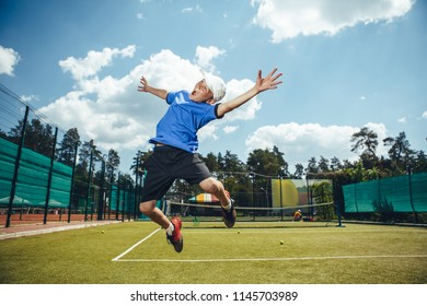
<svg viewBox="0 0 427 306"><path fill-rule="evenodd" d="M365 125L377 132L379 146L377 155L386 154L382 146L382 139L386 138L386 129L382 123L369 122ZM357 154L351 152L351 136L360 131L359 127L328 126L319 123L281 123L278 126L264 126L250 134L245 140L246 152L255 149L273 149L276 145L285 153L285 160L295 165L307 165L311 157L318 161L320 156L331 160L334 156L343 160L355 161Z"/></svg>

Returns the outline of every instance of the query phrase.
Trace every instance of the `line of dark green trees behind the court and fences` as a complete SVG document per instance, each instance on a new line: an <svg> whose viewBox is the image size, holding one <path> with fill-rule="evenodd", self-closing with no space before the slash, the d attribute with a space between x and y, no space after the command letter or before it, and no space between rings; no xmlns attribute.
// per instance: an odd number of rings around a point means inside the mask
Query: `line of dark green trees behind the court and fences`
<svg viewBox="0 0 427 306"><path fill-rule="evenodd" d="M23 122L9 132L0 131L3 137L18 143L21 138ZM396 137L388 137L380 140L378 134L367 127L354 133L350 139L351 152L358 154L358 160L350 162L341 161L337 156L326 158L324 156L311 157L307 165L297 164L291 173L286 162L285 153L277 146L273 149L255 149L246 161L241 161L231 151L224 153L208 153L201 156L211 173L223 181L226 188L234 195L240 203L257 202L268 204L272 201L272 178L330 178L334 179L334 195L336 201L344 202L341 187L346 184L360 183L370 179L400 176L412 173L427 172L427 156L422 150L411 148L405 132ZM379 156L377 149L379 143L389 148L388 156ZM51 126L39 119L27 122L25 130L25 148L34 150L46 156L50 156L54 145L54 131ZM76 149L78 148L78 151ZM77 155L76 155L76 152ZM131 188L135 179L142 181L145 163L151 152L138 151L130 166L131 175L122 174L120 184ZM77 128L69 129L57 143L56 161L72 166L76 161L76 181L88 181L90 173L93 174L94 184L101 184L100 167L95 165L105 163L105 180L107 184L117 184L120 156L117 151L109 150L107 154L96 148L94 140L81 141ZM92 162L91 162L92 160ZM140 184L139 184L140 185ZM80 186L80 187L79 187ZM83 192L83 184L78 184L76 192ZM197 186L188 186L177 180L171 193L186 200L189 196L198 192Z"/></svg>

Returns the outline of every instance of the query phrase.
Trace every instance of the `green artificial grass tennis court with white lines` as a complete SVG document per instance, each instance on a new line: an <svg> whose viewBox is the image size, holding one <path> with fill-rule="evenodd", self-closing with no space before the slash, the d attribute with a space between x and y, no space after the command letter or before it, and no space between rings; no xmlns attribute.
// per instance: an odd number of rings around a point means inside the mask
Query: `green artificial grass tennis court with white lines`
<svg viewBox="0 0 427 306"><path fill-rule="evenodd" d="M318 222L151 222L0 240L2 284L426 284L427 229ZM104 231L104 233L103 233Z"/></svg>

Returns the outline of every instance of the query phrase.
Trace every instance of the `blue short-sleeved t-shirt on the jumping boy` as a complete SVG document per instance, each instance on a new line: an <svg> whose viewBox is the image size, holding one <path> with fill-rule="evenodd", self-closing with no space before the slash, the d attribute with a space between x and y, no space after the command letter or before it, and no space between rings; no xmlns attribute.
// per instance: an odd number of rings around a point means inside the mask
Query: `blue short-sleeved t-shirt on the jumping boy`
<svg viewBox="0 0 427 306"><path fill-rule="evenodd" d="M168 93L170 105L157 126L155 137L150 143L163 143L195 153L198 149L197 131L217 116L216 105L194 102L186 91Z"/></svg>

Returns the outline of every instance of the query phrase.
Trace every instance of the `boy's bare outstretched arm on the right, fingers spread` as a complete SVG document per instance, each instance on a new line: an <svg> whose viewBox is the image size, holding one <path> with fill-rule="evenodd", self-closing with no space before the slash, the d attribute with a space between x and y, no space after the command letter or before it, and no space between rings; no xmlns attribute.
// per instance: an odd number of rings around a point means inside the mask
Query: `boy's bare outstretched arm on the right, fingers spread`
<svg viewBox="0 0 427 306"><path fill-rule="evenodd" d="M261 70L258 70L255 85L244 94L226 103L221 103L217 109L218 117L222 117L227 113L240 107L241 105L245 104L247 101L264 91L276 90L277 86L282 83L281 81L277 81L277 79L279 79L282 73L275 74L276 72L277 68L273 69L272 72L263 79L262 72Z"/></svg>

